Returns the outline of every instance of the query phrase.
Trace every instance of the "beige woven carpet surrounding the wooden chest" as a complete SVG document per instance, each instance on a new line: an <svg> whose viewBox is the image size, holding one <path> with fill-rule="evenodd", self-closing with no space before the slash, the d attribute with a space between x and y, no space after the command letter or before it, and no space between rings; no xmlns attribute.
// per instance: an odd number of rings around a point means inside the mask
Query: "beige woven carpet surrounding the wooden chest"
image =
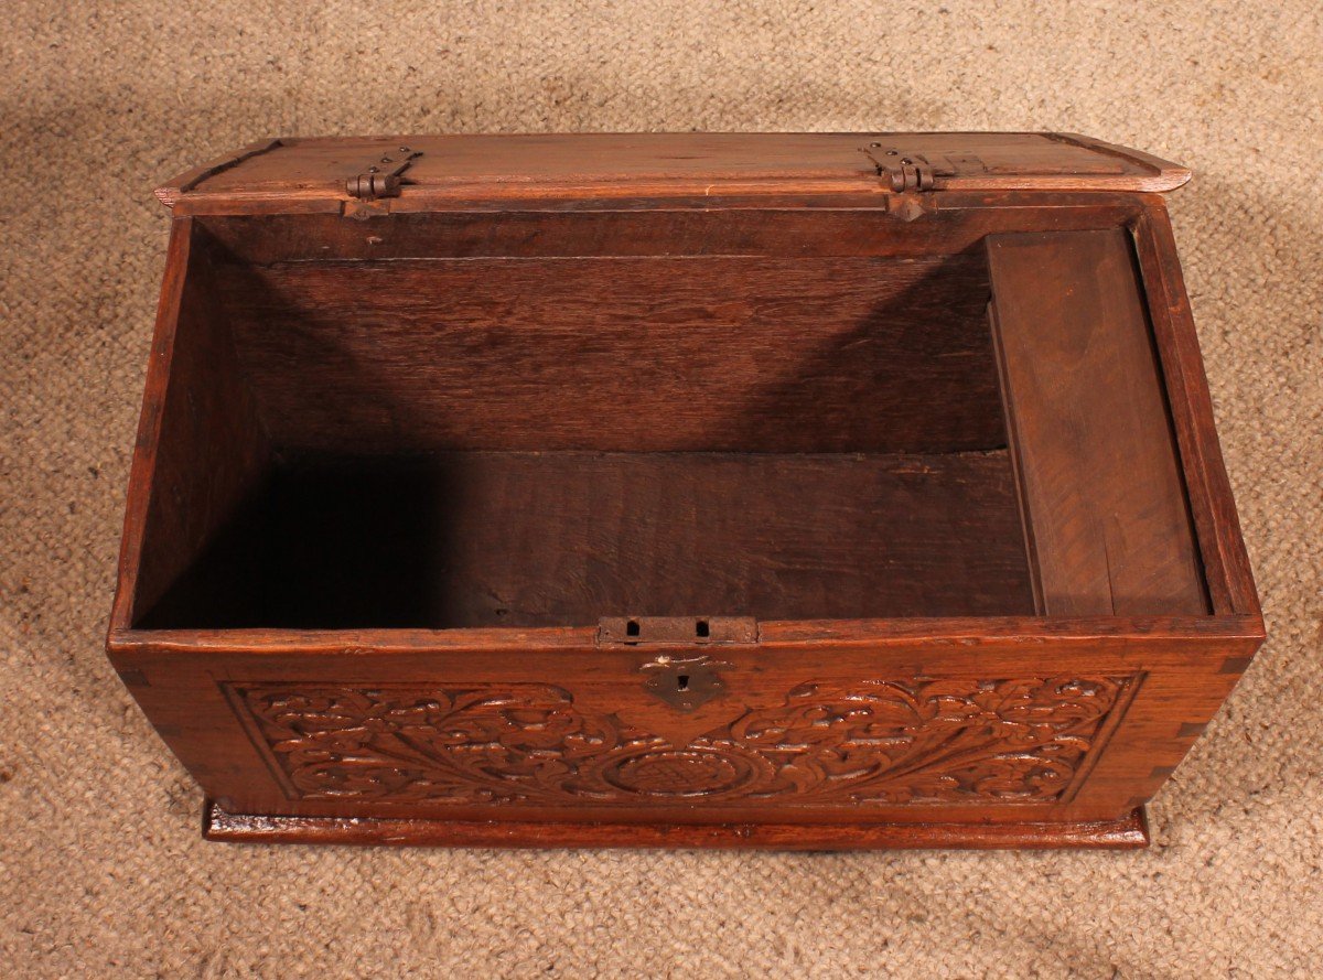
<svg viewBox="0 0 1323 980"><path fill-rule="evenodd" d="M1318 976L1320 50L1315 0L7 0L0 976ZM1176 233L1271 639L1154 848L201 842L101 649L153 181L280 134L687 128L1069 130L1193 167Z"/></svg>

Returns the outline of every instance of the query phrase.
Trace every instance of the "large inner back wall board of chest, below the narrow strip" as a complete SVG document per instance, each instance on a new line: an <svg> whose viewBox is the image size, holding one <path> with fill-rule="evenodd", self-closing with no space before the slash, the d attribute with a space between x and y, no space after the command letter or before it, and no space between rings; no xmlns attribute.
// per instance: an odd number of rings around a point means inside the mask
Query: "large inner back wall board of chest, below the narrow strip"
<svg viewBox="0 0 1323 980"><path fill-rule="evenodd" d="M1005 444L982 257L226 268L278 444L941 452Z"/></svg>

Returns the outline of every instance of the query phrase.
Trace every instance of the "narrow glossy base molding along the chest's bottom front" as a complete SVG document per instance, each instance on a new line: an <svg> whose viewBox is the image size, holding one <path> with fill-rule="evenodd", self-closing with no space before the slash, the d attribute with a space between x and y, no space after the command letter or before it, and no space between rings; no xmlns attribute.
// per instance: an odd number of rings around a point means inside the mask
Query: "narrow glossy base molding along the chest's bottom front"
<svg viewBox="0 0 1323 980"><path fill-rule="evenodd" d="M1119 820L996 824L593 824L414 817L258 816L208 800L202 836L230 844L441 848L757 848L868 850L1148 846L1143 807Z"/></svg>

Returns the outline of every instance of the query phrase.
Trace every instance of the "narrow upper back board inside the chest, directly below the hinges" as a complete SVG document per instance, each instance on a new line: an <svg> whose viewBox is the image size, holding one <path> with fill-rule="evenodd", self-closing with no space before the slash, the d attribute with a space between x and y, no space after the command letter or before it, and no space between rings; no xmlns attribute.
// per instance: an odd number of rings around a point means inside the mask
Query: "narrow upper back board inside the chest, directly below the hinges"
<svg viewBox="0 0 1323 980"><path fill-rule="evenodd" d="M916 196L910 196L914 198ZM339 214L205 214L196 218L232 262L550 258L885 258L984 262L984 238L1012 231L1089 231L1138 221L1135 194L1031 192L942 194L901 221L889 197L631 200L582 204L472 202L462 210ZM925 198L927 200L927 198ZM941 208L937 206L941 201ZM560 206L558 206L560 205ZM814 263L816 265L816 263ZM820 267L820 266L819 266Z"/></svg>

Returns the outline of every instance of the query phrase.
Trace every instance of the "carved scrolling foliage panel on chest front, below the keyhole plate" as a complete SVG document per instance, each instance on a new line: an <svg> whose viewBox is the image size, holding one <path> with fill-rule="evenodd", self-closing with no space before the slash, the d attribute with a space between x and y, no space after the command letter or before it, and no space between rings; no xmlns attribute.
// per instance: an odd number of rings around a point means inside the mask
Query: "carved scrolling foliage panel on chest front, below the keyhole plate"
<svg viewBox="0 0 1323 980"><path fill-rule="evenodd" d="M1129 684L802 684L684 745L542 684L228 686L295 799L779 808L1060 800Z"/></svg>

